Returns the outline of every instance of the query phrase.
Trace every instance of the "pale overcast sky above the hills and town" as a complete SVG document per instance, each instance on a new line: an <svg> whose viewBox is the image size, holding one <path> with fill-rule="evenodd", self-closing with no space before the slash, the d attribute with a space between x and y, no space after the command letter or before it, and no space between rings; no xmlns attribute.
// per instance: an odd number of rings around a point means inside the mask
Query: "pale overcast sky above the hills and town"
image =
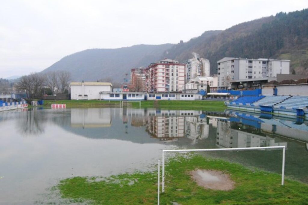
<svg viewBox="0 0 308 205"><path fill-rule="evenodd" d="M178 43L307 7L307 0L0 0L0 77L39 72L84 49Z"/></svg>

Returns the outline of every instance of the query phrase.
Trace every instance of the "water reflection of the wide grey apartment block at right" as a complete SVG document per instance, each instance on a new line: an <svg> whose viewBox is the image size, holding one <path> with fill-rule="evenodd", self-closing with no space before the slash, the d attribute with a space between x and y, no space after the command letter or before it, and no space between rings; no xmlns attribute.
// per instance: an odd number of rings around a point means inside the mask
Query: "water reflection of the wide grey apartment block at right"
<svg viewBox="0 0 308 205"><path fill-rule="evenodd" d="M261 132L261 129L229 120L217 121L216 144L224 148L287 146L286 142L277 142L273 137Z"/></svg>

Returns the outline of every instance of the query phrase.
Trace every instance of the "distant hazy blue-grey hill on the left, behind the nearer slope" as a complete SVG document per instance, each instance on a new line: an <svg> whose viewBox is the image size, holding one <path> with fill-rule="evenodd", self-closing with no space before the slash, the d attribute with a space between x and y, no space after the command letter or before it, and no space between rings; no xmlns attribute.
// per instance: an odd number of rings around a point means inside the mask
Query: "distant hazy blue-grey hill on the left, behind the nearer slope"
<svg viewBox="0 0 308 205"><path fill-rule="evenodd" d="M130 69L147 66L160 60L161 54L173 44L134 45L118 49L88 49L63 57L60 61L43 70L64 70L71 72L73 81L96 81L113 78L123 82Z"/></svg>

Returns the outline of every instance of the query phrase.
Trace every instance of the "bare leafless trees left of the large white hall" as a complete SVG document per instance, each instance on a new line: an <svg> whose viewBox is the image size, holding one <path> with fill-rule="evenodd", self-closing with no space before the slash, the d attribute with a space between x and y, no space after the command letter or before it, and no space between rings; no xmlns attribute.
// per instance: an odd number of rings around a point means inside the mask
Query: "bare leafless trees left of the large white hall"
<svg viewBox="0 0 308 205"><path fill-rule="evenodd" d="M51 71L48 73L31 73L22 76L15 84L15 89L25 92L27 99L32 101L43 95L68 93L71 73L67 71Z"/></svg>

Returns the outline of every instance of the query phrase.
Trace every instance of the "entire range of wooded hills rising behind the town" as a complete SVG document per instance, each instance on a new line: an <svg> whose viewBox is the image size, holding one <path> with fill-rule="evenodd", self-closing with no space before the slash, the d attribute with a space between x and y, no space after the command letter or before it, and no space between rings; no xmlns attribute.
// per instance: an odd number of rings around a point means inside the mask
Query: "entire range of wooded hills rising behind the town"
<svg viewBox="0 0 308 205"><path fill-rule="evenodd" d="M119 49L89 49L64 57L43 72L66 70L73 80L112 77L123 81L134 67L165 57L180 62L197 52L210 60L211 74L223 57L290 59L290 72L308 74L308 9L244 22L224 31L206 31L188 42L135 45Z"/></svg>

